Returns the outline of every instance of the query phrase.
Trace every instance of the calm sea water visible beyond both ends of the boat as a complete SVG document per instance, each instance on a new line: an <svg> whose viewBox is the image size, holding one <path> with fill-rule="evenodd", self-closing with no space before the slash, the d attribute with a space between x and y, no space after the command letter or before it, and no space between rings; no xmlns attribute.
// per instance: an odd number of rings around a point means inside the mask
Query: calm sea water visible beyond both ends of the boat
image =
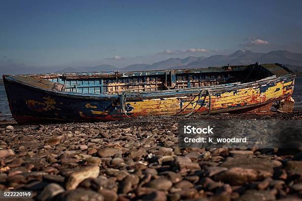
<svg viewBox="0 0 302 201"><path fill-rule="evenodd" d="M295 80L295 89L292 96L295 100L295 109L302 109L302 76L297 76ZM0 121L13 120L3 84L0 84Z"/></svg>

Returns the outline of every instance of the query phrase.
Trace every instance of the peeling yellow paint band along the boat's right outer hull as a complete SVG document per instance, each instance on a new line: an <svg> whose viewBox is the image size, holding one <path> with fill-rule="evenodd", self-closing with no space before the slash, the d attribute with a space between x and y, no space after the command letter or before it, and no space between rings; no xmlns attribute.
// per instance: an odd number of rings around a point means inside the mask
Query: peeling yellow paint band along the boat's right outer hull
<svg viewBox="0 0 302 201"><path fill-rule="evenodd" d="M237 90L236 92L222 93L220 96L212 94L211 110L229 108L237 105L253 105L264 103L270 100L277 100L285 98L284 94L292 93L293 89L286 90L286 86L292 85L292 82L285 83L278 82L275 86L269 87L264 93L260 93L260 88L252 87ZM276 91L277 89L280 89ZM200 101L205 100L206 104L196 105L198 96L195 97L173 97L161 99L151 99L143 101L127 101L126 104L133 107L130 113L147 113L160 114L166 112L167 114L178 114L179 112L190 112L194 107L194 111L200 109L204 111L208 109L209 97L202 97ZM182 105L182 107L181 107Z"/></svg>

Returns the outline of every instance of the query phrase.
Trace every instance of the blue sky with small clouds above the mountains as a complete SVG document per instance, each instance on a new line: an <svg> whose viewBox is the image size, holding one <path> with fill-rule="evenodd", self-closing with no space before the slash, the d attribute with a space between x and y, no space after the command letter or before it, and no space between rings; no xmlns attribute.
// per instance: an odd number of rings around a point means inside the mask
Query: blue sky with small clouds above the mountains
<svg viewBox="0 0 302 201"><path fill-rule="evenodd" d="M0 0L0 61L122 66L237 49L302 52L301 8L301 0Z"/></svg>

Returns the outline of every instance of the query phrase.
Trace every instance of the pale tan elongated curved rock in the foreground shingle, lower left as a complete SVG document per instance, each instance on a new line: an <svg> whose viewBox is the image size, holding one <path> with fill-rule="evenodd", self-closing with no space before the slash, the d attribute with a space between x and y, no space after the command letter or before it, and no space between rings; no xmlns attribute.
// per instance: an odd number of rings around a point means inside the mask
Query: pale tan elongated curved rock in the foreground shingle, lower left
<svg viewBox="0 0 302 201"><path fill-rule="evenodd" d="M82 167L79 170L71 173L65 182L65 188L67 190L76 189L79 183L87 178L96 178L100 174L100 167L98 166L87 166Z"/></svg>

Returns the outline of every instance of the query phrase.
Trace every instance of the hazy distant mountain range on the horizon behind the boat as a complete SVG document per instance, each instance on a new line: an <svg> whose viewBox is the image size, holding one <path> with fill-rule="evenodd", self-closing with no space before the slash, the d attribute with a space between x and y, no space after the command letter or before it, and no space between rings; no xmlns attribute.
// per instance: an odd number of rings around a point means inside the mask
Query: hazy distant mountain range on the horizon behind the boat
<svg viewBox="0 0 302 201"><path fill-rule="evenodd" d="M88 72L88 71L140 71L161 69L188 69L200 67L246 65L260 62L279 63L288 65L293 71L302 71L302 53L293 53L286 50L276 50L268 53L238 50L229 55L213 55L210 57L187 57L184 59L170 58L164 61L149 64L133 64L123 68L111 65L100 65L95 67L68 67L57 72Z"/></svg>

